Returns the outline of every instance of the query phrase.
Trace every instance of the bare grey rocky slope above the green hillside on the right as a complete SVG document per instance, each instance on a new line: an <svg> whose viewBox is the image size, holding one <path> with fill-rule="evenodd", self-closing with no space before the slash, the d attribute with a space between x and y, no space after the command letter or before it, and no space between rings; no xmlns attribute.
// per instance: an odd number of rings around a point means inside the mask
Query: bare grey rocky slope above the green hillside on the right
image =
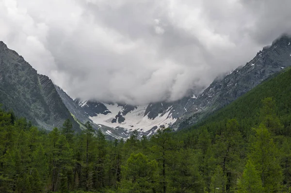
<svg viewBox="0 0 291 193"><path fill-rule="evenodd" d="M245 66L236 69L222 80L213 81L197 99L192 100L193 103L185 106L187 112L185 111L172 127L178 129L194 124L288 66L291 66L291 38L283 35L271 46L259 51Z"/></svg>

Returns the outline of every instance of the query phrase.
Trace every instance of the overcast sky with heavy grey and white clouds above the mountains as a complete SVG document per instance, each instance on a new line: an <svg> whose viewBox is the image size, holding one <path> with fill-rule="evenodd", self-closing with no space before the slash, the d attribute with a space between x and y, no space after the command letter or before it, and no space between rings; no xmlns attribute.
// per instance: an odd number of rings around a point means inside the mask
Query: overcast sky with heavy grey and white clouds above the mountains
<svg viewBox="0 0 291 193"><path fill-rule="evenodd" d="M291 0L0 0L0 41L72 98L147 104L210 85L291 31Z"/></svg>

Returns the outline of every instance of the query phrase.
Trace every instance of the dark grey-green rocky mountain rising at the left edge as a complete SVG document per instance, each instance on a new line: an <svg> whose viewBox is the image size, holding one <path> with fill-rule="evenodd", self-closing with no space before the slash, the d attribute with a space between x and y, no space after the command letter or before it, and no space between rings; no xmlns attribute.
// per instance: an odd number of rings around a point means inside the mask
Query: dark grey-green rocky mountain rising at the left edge
<svg viewBox="0 0 291 193"><path fill-rule="evenodd" d="M0 104L12 109L17 117L25 117L40 128L51 130L62 127L65 119L79 124L71 116L48 76L37 71L0 42Z"/></svg>

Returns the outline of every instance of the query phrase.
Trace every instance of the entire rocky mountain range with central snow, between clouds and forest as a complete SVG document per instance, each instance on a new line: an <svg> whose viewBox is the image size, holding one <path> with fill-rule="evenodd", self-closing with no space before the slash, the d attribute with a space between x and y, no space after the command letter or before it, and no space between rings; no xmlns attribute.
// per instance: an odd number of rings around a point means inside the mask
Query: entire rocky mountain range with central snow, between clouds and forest
<svg viewBox="0 0 291 193"><path fill-rule="evenodd" d="M203 92L193 92L175 102L144 106L102 103L73 100L0 42L0 103L44 129L61 127L65 119L71 119L76 130L90 121L95 129L115 138L128 138L133 130L149 136L159 128L178 130L205 119L288 66L291 38L282 35L244 66L216 78Z"/></svg>

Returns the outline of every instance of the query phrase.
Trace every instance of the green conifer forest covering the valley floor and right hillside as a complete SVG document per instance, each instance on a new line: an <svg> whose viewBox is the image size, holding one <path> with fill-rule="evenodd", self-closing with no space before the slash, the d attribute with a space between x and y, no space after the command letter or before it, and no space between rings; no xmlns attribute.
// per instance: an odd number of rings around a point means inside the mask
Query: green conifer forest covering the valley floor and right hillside
<svg viewBox="0 0 291 193"><path fill-rule="evenodd" d="M289 193L291 70L199 125L105 139L0 111L0 193Z"/></svg>

